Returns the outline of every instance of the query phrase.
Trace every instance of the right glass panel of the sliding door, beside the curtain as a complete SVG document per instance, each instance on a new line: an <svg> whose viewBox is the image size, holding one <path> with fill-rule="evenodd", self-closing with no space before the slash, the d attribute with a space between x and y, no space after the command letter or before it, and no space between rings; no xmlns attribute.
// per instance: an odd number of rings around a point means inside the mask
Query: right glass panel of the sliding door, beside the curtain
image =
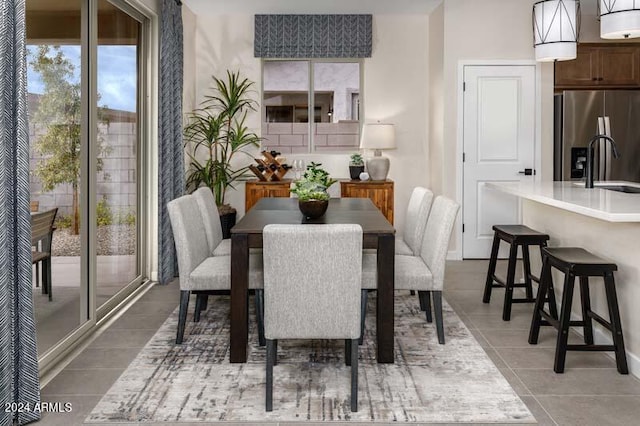
<svg viewBox="0 0 640 426"><path fill-rule="evenodd" d="M97 307L140 276L141 33L138 20L98 1Z"/></svg>

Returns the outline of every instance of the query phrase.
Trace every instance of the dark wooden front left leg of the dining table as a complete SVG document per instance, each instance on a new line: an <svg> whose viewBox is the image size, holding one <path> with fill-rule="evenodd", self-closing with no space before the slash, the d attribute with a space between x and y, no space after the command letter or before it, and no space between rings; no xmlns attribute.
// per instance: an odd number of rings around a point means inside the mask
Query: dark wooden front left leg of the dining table
<svg viewBox="0 0 640 426"><path fill-rule="evenodd" d="M231 362L247 362L249 236L231 235Z"/></svg>

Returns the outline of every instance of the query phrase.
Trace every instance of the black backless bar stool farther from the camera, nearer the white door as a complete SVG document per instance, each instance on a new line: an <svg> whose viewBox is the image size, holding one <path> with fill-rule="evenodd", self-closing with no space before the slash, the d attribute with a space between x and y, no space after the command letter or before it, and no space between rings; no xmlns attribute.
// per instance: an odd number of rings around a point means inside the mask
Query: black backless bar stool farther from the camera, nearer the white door
<svg viewBox="0 0 640 426"><path fill-rule="evenodd" d="M512 303L533 303L536 301L533 297L531 281L539 283L540 279L531 273L529 246L539 246L542 253L542 248L547 246L549 236L524 225L494 225L493 230L495 232L493 235L493 247L491 249L489 270L487 271L487 281L484 286L482 301L484 303L489 303L491 300L491 290L493 288L504 288L505 292L504 306L502 307L502 319L504 321L509 321L511 319ZM496 276L496 263L498 261L500 241L505 241L510 244L509 266L507 268L507 279L505 281ZM522 283L514 282L516 275L516 262L518 260L518 246L522 247L522 264L524 268L524 282ZM513 289L516 287L525 288L525 298L513 298ZM553 303L550 303L550 305L551 304L555 306L555 300L553 300Z"/></svg>

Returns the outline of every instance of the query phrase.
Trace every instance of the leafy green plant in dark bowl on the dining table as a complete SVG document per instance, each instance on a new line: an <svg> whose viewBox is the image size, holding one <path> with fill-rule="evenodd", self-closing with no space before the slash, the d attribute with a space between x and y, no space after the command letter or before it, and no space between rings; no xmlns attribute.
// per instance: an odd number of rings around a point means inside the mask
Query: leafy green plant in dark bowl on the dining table
<svg viewBox="0 0 640 426"><path fill-rule="evenodd" d="M298 196L298 206L307 219L321 217L329 205L327 190L337 182L322 169L321 163L311 162L307 166L302 178L293 182L290 191Z"/></svg>

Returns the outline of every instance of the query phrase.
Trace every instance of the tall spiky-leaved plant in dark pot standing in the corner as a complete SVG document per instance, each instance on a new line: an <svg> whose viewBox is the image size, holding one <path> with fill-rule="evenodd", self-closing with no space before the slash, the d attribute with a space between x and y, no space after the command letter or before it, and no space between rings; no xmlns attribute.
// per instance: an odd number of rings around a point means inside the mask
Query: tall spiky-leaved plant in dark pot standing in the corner
<svg viewBox="0 0 640 426"><path fill-rule="evenodd" d="M255 111L251 97L253 82L227 71L226 80L213 76L213 94L205 96L201 107L187 116L184 128L185 148L190 159L187 191L206 185L218 205L224 238L229 238L236 222L236 209L225 203L228 188L239 178L248 176L250 160L238 165L234 158L246 155L249 148L260 146L260 137L245 125L247 113ZM233 160L233 162L232 162Z"/></svg>

